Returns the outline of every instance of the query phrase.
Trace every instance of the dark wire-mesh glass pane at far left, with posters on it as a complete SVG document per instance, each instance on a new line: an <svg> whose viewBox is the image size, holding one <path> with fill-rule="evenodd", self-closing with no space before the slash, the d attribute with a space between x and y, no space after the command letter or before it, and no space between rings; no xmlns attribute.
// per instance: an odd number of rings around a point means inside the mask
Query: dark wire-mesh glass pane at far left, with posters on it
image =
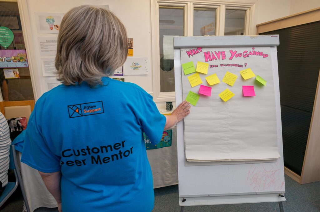
<svg viewBox="0 0 320 212"><path fill-rule="evenodd" d="M0 23L13 33L13 41L7 47L0 46L0 88L4 101L20 101L34 99L30 71L26 66L28 55L25 55L25 45L21 28L20 14L17 2L0 2ZM11 53L10 50L21 50ZM10 52L10 53L8 53ZM19 54L19 55L18 55Z"/></svg>

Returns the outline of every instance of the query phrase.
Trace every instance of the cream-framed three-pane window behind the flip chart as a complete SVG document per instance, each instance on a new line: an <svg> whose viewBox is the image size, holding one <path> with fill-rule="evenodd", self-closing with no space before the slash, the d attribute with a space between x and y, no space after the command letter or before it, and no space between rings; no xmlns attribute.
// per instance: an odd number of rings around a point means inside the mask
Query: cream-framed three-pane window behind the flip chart
<svg viewBox="0 0 320 212"><path fill-rule="evenodd" d="M254 35L254 3L150 0L154 101L174 101L174 36ZM179 70L180 71L180 70Z"/></svg>

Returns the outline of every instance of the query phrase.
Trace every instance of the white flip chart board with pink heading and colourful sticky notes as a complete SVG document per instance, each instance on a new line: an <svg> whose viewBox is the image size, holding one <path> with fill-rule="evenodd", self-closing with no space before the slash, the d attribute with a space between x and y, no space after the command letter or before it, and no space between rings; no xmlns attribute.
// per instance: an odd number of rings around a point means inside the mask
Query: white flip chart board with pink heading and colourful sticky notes
<svg viewBox="0 0 320 212"><path fill-rule="evenodd" d="M195 100L177 124L180 205L285 200L277 45L278 35L174 38L176 104L190 91ZM220 83L209 84L213 74ZM231 98L220 98L226 89Z"/></svg>

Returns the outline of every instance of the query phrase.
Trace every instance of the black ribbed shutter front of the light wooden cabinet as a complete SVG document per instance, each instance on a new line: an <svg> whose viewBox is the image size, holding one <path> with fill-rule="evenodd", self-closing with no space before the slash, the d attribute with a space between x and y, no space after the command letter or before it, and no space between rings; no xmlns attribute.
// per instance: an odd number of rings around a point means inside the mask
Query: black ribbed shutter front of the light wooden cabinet
<svg viewBox="0 0 320 212"><path fill-rule="evenodd" d="M320 21L260 35L279 35L284 165L301 175L320 68Z"/></svg>

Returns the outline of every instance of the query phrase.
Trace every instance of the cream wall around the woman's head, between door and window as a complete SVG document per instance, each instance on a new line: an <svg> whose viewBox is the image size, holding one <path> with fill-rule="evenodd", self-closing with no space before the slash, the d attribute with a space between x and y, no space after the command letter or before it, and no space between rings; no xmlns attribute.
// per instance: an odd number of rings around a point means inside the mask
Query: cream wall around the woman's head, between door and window
<svg viewBox="0 0 320 212"><path fill-rule="evenodd" d="M28 39L31 39L32 51L31 57L33 60L33 74L35 75L36 93L35 99L39 98L44 92L46 92L46 86L44 83L44 77L42 75L42 68L40 63L40 52L37 42L37 36L53 36L56 34L38 34L36 29L35 12L55 12L65 13L72 7L92 4L92 5L109 5L109 9L114 12L124 23L128 37L133 38L133 56L134 57L147 57L148 58L148 75L135 75L125 76L127 82L134 82L141 86L144 90L152 94L152 58L151 58L151 21L150 21L150 0L77 0L77 1L65 1L65 0L28 0L28 8L22 8L25 13L28 13L30 29ZM50 5L50 6L49 6ZM26 15L24 15L25 20ZM22 17L21 17L22 18Z"/></svg>

